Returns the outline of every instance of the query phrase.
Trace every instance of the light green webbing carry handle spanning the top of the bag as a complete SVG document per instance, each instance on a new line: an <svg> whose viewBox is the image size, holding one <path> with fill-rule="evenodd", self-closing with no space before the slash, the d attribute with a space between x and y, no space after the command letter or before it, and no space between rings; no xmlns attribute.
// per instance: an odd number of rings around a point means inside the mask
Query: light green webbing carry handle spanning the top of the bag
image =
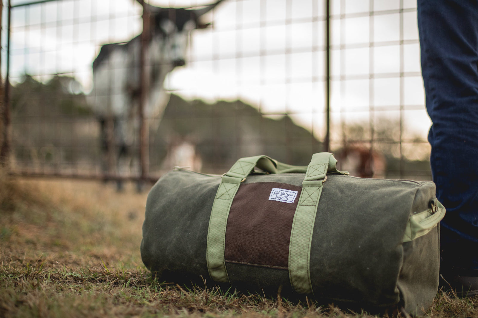
<svg viewBox="0 0 478 318"><path fill-rule="evenodd" d="M225 175L242 180L250 174L254 167L269 173L307 173L310 166L323 164L324 160L328 161L326 173L348 174L348 172L337 170L337 159L334 158L334 155L329 152L319 152L312 156L312 160L308 166L293 166L279 162L268 156L245 157L236 161Z"/></svg>

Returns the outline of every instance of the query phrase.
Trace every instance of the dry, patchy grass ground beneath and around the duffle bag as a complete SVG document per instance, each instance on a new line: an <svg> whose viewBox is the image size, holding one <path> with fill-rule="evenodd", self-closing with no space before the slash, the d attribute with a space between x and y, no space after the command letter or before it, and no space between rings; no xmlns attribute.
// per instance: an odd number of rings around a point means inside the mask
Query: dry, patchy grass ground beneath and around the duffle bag
<svg viewBox="0 0 478 318"><path fill-rule="evenodd" d="M146 194L0 175L0 317L370 317L314 302L159 283L141 262ZM439 293L425 316L478 318Z"/></svg>

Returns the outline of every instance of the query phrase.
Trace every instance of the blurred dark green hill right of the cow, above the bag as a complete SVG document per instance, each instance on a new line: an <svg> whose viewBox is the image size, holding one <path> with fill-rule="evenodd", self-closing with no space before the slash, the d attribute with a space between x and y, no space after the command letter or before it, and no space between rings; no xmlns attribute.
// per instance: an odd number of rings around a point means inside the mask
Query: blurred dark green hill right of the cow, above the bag
<svg viewBox="0 0 478 318"><path fill-rule="evenodd" d="M288 116L263 117L256 107L239 100L207 104L177 95L171 95L151 139L157 147L157 156L152 156L157 161L152 164L161 164L168 147L186 141L196 146L203 170L211 172L227 170L237 159L258 154L307 165L313 153L323 151L322 143Z"/></svg>

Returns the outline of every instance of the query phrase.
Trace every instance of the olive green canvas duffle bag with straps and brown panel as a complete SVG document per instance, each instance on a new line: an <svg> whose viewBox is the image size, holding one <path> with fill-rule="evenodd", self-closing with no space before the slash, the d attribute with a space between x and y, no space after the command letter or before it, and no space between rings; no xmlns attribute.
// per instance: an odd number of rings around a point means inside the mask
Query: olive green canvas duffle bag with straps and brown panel
<svg viewBox="0 0 478 318"><path fill-rule="evenodd" d="M144 264L163 281L422 313L438 289L435 184L351 177L336 164L324 152L303 167L256 156L222 176L166 173L146 203Z"/></svg>

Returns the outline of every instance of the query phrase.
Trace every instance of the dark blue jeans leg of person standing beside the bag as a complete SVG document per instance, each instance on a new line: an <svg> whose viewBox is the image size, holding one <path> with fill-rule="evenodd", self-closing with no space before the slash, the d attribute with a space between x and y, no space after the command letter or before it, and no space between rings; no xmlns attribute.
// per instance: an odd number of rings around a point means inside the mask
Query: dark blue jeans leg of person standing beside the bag
<svg viewBox="0 0 478 318"><path fill-rule="evenodd" d="M478 1L418 0L442 264L478 268Z"/></svg>

